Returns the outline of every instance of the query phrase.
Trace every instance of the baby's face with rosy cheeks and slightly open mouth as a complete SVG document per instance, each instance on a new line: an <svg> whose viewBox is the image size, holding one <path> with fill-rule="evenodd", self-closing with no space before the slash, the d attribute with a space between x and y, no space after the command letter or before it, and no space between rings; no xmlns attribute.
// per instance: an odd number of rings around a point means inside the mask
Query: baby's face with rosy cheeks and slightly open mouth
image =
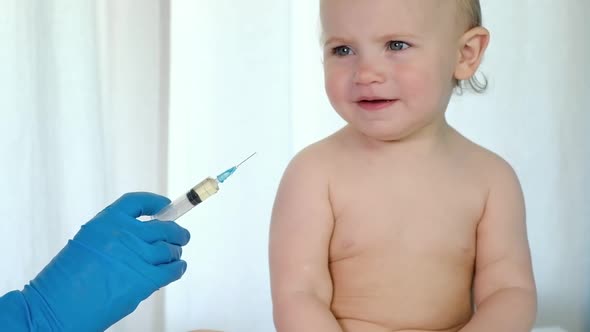
<svg viewBox="0 0 590 332"><path fill-rule="evenodd" d="M334 109L363 134L398 140L444 119L459 58L455 0L321 0Z"/></svg>

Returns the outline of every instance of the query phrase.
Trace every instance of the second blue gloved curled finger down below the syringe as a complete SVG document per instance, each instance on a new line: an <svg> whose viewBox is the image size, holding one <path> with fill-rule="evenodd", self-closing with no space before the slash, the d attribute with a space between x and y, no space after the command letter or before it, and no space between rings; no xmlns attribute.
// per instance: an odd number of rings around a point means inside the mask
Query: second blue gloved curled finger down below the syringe
<svg viewBox="0 0 590 332"><path fill-rule="evenodd" d="M150 265L174 262L182 256L182 247L168 242L146 243L133 234L122 237L123 244Z"/></svg>

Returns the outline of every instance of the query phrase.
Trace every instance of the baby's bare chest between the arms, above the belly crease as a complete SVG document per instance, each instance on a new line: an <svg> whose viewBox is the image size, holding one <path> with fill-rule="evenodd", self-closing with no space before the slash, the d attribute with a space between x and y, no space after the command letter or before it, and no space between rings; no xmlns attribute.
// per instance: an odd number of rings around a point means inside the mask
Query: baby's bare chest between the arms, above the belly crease
<svg viewBox="0 0 590 332"><path fill-rule="evenodd" d="M475 255L486 192L472 176L452 170L338 176L330 190L331 261L359 255L450 260Z"/></svg>

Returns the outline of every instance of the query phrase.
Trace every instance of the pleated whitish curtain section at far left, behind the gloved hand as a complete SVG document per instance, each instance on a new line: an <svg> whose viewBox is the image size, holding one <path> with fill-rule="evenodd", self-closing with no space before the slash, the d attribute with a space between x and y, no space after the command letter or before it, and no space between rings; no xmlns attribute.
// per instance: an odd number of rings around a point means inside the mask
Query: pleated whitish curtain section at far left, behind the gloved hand
<svg viewBox="0 0 590 332"><path fill-rule="evenodd" d="M123 192L164 191L165 8L0 0L0 293ZM161 312L157 295L111 330L162 331Z"/></svg>

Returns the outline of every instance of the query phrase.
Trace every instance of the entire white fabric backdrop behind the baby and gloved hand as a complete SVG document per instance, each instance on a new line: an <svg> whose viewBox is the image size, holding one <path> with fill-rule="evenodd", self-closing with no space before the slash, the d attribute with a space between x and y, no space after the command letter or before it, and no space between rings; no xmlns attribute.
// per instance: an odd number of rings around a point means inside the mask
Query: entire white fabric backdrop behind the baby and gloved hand
<svg viewBox="0 0 590 332"><path fill-rule="evenodd" d="M539 326L586 331L590 3L483 7L490 89L455 98L449 117L520 175ZM258 151L181 221L189 267L165 303L156 296L112 330L272 331L274 191L296 151L342 125L323 92L317 3L174 1L169 119L167 17L166 1L0 0L0 292L20 289L121 193L175 197Z"/></svg>

